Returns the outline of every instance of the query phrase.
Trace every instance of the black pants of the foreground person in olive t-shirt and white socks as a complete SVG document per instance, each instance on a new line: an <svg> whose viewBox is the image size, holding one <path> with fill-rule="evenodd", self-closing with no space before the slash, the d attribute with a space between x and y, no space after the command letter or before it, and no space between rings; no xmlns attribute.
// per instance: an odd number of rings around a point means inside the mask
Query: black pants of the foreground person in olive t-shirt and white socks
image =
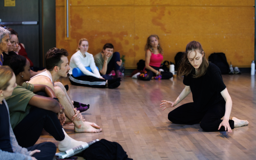
<svg viewBox="0 0 256 160"><path fill-rule="evenodd" d="M65 135L56 113L32 107L29 114L13 129L15 137L21 147L33 146L39 139L43 128L55 140L64 140Z"/></svg>

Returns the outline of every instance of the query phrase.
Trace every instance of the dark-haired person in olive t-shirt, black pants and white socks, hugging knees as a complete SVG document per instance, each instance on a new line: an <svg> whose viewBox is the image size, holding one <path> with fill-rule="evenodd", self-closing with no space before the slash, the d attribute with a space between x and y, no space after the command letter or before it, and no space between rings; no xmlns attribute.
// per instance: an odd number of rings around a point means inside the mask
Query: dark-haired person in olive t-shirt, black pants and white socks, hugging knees
<svg viewBox="0 0 256 160"><path fill-rule="evenodd" d="M11 126L19 145L33 146L43 129L57 140L59 150L67 150L83 144L82 141L70 138L62 128L60 123L65 122L64 108L57 101L52 89L45 85L26 83L31 77L29 61L17 55L12 57L8 65L14 72L17 87L5 100L10 110ZM45 92L48 97L36 95L36 92ZM72 119L79 120L80 116L77 112Z"/></svg>

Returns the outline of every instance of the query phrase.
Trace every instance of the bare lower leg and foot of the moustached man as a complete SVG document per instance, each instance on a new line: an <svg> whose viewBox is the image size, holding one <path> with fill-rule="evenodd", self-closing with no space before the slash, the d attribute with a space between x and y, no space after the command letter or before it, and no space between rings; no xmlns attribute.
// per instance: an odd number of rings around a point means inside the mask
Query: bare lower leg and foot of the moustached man
<svg viewBox="0 0 256 160"><path fill-rule="evenodd" d="M55 89L56 97L60 100L60 104L65 108L65 115L69 118L69 120L71 120L75 124L75 132L92 132L92 133L95 132L96 133L102 130L102 129L94 128L93 125L88 124L82 120L80 121L72 120L72 116L75 115L73 110L74 109L73 105L69 102L65 92L59 86L55 86L54 89ZM95 126L98 126L98 125L95 124Z"/></svg>

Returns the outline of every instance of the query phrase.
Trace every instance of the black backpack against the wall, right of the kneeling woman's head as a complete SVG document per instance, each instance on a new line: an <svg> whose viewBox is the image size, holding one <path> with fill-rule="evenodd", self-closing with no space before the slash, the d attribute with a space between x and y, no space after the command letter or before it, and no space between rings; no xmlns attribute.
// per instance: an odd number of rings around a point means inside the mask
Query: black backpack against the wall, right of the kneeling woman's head
<svg viewBox="0 0 256 160"><path fill-rule="evenodd" d="M220 68L221 74L229 73L229 65L224 53L212 53L208 60Z"/></svg>

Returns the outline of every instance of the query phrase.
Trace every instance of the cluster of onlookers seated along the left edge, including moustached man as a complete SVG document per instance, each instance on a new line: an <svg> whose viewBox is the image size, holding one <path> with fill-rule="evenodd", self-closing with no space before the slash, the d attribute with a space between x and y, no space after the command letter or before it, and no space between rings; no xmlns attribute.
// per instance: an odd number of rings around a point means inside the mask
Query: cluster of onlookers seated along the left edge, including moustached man
<svg viewBox="0 0 256 160"><path fill-rule="evenodd" d="M78 107L87 110L89 105L72 101L63 84L55 82L68 75L68 52L49 50L47 70L30 80L30 61L16 53L19 48L15 33L11 28L0 27L0 159L53 159L55 144L35 145L43 129L57 140L61 151L85 143L70 138L62 128L64 123L73 122L75 132L96 133L102 129L81 115Z"/></svg>

